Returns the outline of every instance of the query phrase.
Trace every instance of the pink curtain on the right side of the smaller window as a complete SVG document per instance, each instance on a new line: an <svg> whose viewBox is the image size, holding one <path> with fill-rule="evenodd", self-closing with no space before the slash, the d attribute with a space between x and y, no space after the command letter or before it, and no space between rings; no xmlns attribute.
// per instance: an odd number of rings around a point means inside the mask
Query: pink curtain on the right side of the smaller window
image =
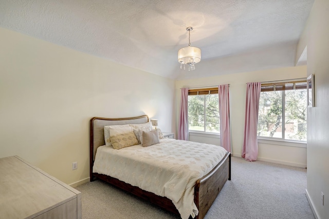
<svg viewBox="0 0 329 219"><path fill-rule="evenodd" d="M218 86L218 99L220 100L221 121L221 146L231 152L231 130L230 130L230 103L229 85Z"/></svg>

